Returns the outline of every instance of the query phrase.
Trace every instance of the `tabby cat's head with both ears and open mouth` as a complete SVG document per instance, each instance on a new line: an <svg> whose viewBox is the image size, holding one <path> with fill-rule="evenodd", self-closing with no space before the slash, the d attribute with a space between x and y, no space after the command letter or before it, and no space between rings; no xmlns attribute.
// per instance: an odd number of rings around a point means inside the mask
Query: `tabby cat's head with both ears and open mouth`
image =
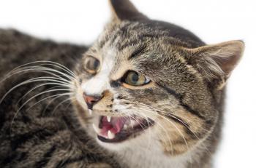
<svg viewBox="0 0 256 168"><path fill-rule="evenodd" d="M110 6L113 18L73 82L81 124L110 149L149 143L177 155L200 145L219 121L222 91L244 43L206 45L127 0Z"/></svg>

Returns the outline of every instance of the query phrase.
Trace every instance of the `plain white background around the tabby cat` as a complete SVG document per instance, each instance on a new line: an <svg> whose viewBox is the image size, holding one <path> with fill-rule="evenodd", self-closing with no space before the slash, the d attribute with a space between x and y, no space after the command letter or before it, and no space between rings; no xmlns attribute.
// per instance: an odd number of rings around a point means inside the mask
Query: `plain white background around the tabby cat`
<svg viewBox="0 0 256 168"><path fill-rule="evenodd" d="M132 0L148 17L184 26L208 44L246 43L230 77L222 145L215 167L255 167L256 5L253 0ZM0 0L0 28L43 39L91 44L110 17L107 0Z"/></svg>

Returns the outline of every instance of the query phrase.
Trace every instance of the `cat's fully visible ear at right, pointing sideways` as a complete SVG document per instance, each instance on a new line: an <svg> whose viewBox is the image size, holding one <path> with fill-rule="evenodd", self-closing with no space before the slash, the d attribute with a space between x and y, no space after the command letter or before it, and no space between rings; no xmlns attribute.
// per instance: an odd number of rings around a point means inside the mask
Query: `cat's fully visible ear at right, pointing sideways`
<svg viewBox="0 0 256 168"><path fill-rule="evenodd" d="M244 42L227 41L189 50L192 54L188 59L189 64L194 66L206 81L221 82L218 87L222 89L243 55Z"/></svg>

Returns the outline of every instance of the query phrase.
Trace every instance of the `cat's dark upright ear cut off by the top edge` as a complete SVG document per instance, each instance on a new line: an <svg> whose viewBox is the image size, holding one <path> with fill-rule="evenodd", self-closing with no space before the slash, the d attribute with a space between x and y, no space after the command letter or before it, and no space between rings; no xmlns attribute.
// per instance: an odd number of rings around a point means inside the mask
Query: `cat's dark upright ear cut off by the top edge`
<svg viewBox="0 0 256 168"><path fill-rule="evenodd" d="M147 17L140 13L129 0L109 0L113 20L142 20Z"/></svg>

